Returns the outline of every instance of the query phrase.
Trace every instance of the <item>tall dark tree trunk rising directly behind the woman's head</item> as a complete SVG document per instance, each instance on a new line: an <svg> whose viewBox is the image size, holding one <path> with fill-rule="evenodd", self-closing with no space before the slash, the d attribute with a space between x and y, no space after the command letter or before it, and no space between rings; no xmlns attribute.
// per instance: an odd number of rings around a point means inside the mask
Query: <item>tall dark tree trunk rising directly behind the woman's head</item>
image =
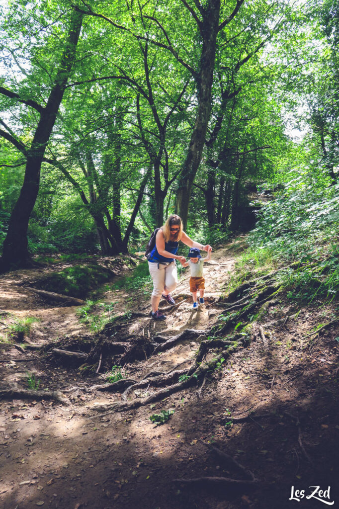
<svg viewBox="0 0 339 509"><path fill-rule="evenodd" d="M177 191L176 213L180 215L185 229L187 226L191 188L201 161L207 126L211 116L212 83L219 14L220 0L209 0L208 6L204 10L201 31L203 44L200 55L200 69L196 76L198 106L195 124Z"/></svg>

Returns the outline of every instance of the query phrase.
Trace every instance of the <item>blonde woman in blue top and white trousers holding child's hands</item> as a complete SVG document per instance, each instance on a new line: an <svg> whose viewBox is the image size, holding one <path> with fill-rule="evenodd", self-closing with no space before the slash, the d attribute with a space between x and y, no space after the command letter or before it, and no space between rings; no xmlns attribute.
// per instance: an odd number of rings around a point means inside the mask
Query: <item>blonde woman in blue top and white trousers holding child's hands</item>
<svg viewBox="0 0 339 509"><path fill-rule="evenodd" d="M148 259L148 266L153 279L151 298L153 320L165 320L166 318L158 309L160 297L163 297L168 304L175 304L170 295L170 292L176 289L178 283L175 260L179 260L181 264L186 262L184 256L178 256L177 254L179 240L189 247L197 247L204 251L211 248L209 244L202 245L190 239L182 228L182 220L178 215L173 214L168 217L156 234L155 247Z"/></svg>

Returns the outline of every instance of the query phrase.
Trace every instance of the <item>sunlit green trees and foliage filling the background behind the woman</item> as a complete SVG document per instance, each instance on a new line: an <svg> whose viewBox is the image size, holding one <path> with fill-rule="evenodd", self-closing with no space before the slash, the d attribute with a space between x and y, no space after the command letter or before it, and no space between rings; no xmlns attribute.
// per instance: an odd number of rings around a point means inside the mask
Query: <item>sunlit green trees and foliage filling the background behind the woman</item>
<svg viewBox="0 0 339 509"><path fill-rule="evenodd" d="M174 212L222 241L255 224L253 192L277 197L256 245L292 235L292 217L295 239L333 228L337 9L3 3L0 270L37 252L138 250Z"/></svg>

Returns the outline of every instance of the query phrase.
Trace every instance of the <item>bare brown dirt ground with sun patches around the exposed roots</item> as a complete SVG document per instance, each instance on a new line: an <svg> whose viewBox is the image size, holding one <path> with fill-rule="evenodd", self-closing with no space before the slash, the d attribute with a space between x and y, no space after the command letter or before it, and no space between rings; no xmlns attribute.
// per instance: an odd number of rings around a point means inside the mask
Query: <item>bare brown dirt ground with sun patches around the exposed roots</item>
<svg viewBox="0 0 339 509"><path fill-rule="evenodd" d="M206 297L224 293L234 269L237 250L224 246L205 264ZM241 248L241 246L238 245ZM16 316L33 315L33 340L45 343L65 334L78 335L77 306L53 307L33 291L20 286L37 271L11 273L2 279L0 309ZM180 278L176 295L188 294L189 272ZM106 291L103 299L116 302L123 314L129 292ZM149 310L149 297L128 301L133 311ZM207 329L216 319L216 308L193 311L191 299L168 315L165 322L138 317L128 332L147 336L172 336L187 328ZM136 309L137 307L137 309ZM269 312L289 312L280 302ZM275 310L275 311L274 311ZM164 401L117 413L93 411L97 403L121 401L121 394L88 392L103 375L86 377L71 365L60 367L33 352L20 352L0 344L2 385L24 386L26 372L40 379L39 389L65 391L69 406L55 401L7 400L0 406L0 502L4 509L287 509L291 486L307 489L331 486L330 500L339 501L336 482L338 349L330 329L303 349L303 337L328 321L333 306L304 306L296 321L266 334L265 341L239 348L211 374L201 398L197 387L187 388ZM0 318L3 320L3 318ZM82 326L82 330L86 328ZM1 331L0 331L1 333ZM304 343L305 344L305 343ZM195 358L198 343L184 341L171 350L128 365L128 376L141 380L150 372L169 372ZM101 381L102 383L102 381ZM70 390L70 387L72 388ZM153 389L134 391L147 397ZM174 409L164 425L149 417ZM249 415L249 412L253 414ZM264 417L262 417L264 415ZM258 417L257 417L258 416ZM299 421L299 422L298 422ZM207 476L239 478L234 465L225 465L201 441L214 442L255 473L259 490L249 486L234 491L232 485L193 489L174 478ZM322 504L301 500L300 507ZM299 507L299 505L298 505Z"/></svg>

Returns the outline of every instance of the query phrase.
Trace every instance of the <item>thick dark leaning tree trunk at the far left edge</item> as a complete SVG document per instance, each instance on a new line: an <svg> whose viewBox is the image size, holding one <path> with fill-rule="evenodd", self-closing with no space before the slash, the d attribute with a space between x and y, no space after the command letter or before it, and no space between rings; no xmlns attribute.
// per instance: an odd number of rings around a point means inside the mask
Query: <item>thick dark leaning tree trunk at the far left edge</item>
<svg viewBox="0 0 339 509"><path fill-rule="evenodd" d="M27 230L29 219L37 200L40 183L40 169L46 146L55 124L68 78L75 60L76 45L80 35L83 14L72 11L70 29L62 54L59 69L46 106L43 108L27 156L25 176L19 198L11 214L7 236L4 242L0 272L29 264Z"/></svg>

